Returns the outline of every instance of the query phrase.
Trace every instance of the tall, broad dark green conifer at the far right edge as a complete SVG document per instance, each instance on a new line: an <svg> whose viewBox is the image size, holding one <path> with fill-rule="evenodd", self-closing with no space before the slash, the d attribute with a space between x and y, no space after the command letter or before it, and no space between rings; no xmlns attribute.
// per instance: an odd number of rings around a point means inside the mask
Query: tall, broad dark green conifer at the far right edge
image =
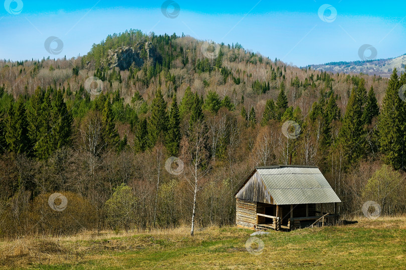
<svg viewBox="0 0 406 270"><path fill-rule="evenodd" d="M378 131L384 161L395 169L404 168L405 116L404 104L398 94L399 87L397 70L394 68L383 97Z"/></svg>

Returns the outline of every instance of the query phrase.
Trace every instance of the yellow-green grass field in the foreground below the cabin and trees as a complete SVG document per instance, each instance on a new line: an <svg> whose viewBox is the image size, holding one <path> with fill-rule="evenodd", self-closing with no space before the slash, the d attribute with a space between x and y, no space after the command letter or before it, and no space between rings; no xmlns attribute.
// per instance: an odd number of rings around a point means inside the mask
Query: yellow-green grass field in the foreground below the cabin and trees
<svg viewBox="0 0 406 270"><path fill-rule="evenodd" d="M406 216L357 220L350 225L270 231L257 238L250 238L253 231L236 227L200 229L194 237L187 227L26 237L0 242L0 267L406 269ZM248 239L256 240L251 249L258 252L247 251Z"/></svg>

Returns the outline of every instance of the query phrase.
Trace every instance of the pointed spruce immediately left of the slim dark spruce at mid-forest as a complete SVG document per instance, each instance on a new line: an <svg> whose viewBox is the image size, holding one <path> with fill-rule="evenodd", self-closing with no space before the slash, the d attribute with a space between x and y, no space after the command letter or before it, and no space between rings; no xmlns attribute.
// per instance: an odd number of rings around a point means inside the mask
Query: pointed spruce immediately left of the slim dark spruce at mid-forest
<svg viewBox="0 0 406 270"><path fill-rule="evenodd" d="M151 104L151 117L148 121L149 147L153 147L159 138L163 139L167 130L168 116L166 114L166 102L163 99L161 89L158 87Z"/></svg>

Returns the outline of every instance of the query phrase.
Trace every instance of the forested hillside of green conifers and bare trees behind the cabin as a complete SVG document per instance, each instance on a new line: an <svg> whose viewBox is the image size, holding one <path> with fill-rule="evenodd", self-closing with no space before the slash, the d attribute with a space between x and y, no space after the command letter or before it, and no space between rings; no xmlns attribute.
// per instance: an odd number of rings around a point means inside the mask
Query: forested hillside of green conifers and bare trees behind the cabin
<svg viewBox="0 0 406 270"><path fill-rule="evenodd" d="M234 224L253 167L290 162L320 167L341 214L404 213L405 84L139 30L0 61L0 236Z"/></svg>

